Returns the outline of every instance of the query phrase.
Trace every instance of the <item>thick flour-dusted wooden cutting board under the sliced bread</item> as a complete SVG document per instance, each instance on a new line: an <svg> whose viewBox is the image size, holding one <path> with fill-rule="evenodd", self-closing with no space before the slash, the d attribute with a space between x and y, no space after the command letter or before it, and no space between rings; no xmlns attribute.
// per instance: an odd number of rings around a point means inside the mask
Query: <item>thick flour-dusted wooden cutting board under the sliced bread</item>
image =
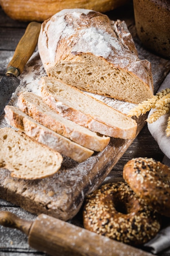
<svg viewBox="0 0 170 256"><path fill-rule="evenodd" d="M170 71L170 61L159 58L144 50L136 36L135 26L131 27L139 58L148 59L152 64L155 92ZM45 75L38 52L27 63L20 75L20 86L13 95L10 104L16 105L18 94L22 91L40 93L38 81ZM93 94L93 96L95 96ZM106 97L95 96L115 109L128 113L135 105ZM145 124L146 116L136 119L137 134ZM4 117L0 118L0 127L7 126ZM53 177L42 180L18 180L10 176L7 169L0 168L0 197L19 205L35 214L46 213L61 220L69 220L76 215L88 193L97 189L110 173L113 166L132 143L132 139L111 138L109 145L100 153L95 153L85 162L77 162L64 157L62 167Z"/></svg>

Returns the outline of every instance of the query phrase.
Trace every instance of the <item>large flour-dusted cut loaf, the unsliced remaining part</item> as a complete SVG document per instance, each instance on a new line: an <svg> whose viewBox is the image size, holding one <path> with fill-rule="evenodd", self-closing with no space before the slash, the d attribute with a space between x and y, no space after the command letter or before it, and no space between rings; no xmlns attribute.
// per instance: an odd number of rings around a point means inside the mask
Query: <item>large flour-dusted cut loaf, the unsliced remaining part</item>
<svg viewBox="0 0 170 256"><path fill-rule="evenodd" d="M124 21L65 9L43 22L38 49L47 75L63 83L136 104L153 95L151 64L138 58Z"/></svg>

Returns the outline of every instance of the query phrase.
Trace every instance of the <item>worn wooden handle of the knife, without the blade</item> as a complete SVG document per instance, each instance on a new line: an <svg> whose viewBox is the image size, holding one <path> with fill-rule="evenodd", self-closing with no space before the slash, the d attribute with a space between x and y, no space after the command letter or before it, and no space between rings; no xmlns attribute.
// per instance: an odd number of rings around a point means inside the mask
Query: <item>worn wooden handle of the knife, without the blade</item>
<svg viewBox="0 0 170 256"><path fill-rule="evenodd" d="M8 64L6 75L17 77L23 72L25 64L33 54L37 45L40 29L41 23L29 23L15 49L12 60Z"/></svg>

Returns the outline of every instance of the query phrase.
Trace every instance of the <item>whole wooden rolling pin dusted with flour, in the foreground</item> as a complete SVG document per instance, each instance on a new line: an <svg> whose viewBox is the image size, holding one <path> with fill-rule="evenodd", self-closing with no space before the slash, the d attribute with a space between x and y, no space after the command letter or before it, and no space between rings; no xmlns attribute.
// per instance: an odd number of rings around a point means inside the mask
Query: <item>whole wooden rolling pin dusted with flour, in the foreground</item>
<svg viewBox="0 0 170 256"><path fill-rule="evenodd" d="M27 221L0 211L0 225L26 233L31 247L52 256L152 255L45 214Z"/></svg>

